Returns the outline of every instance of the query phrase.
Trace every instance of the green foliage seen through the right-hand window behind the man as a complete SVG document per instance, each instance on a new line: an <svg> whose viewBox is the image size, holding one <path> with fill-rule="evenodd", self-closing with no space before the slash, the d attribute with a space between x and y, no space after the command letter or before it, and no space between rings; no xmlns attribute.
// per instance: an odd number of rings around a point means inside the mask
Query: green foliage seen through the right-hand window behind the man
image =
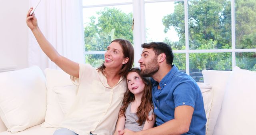
<svg viewBox="0 0 256 135"><path fill-rule="evenodd" d="M236 48L256 48L256 1L236 0ZM184 2L175 2L174 12L162 19L164 32L171 27L180 40L172 42L166 38L173 50L185 49ZM231 2L230 0L190 0L188 1L189 48L231 49ZM255 70L256 57L253 53L240 54L236 64L244 69ZM185 55L175 55L174 63L179 69L186 69ZM177 60L178 62L175 62ZM231 70L231 53L190 53L190 70L201 71Z"/></svg>

